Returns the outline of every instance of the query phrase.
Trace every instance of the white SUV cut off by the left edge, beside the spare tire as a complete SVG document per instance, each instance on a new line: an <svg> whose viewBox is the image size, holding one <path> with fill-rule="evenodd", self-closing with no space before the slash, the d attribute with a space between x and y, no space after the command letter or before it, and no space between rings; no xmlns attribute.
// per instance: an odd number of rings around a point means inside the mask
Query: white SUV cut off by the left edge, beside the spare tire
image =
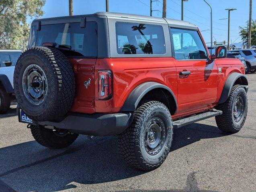
<svg viewBox="0 0 256 192"><path fill-rule="evenodd" d="M0 50L0 114L5 113L15 99L13 73L21 53L20 50Z"/></svg>

